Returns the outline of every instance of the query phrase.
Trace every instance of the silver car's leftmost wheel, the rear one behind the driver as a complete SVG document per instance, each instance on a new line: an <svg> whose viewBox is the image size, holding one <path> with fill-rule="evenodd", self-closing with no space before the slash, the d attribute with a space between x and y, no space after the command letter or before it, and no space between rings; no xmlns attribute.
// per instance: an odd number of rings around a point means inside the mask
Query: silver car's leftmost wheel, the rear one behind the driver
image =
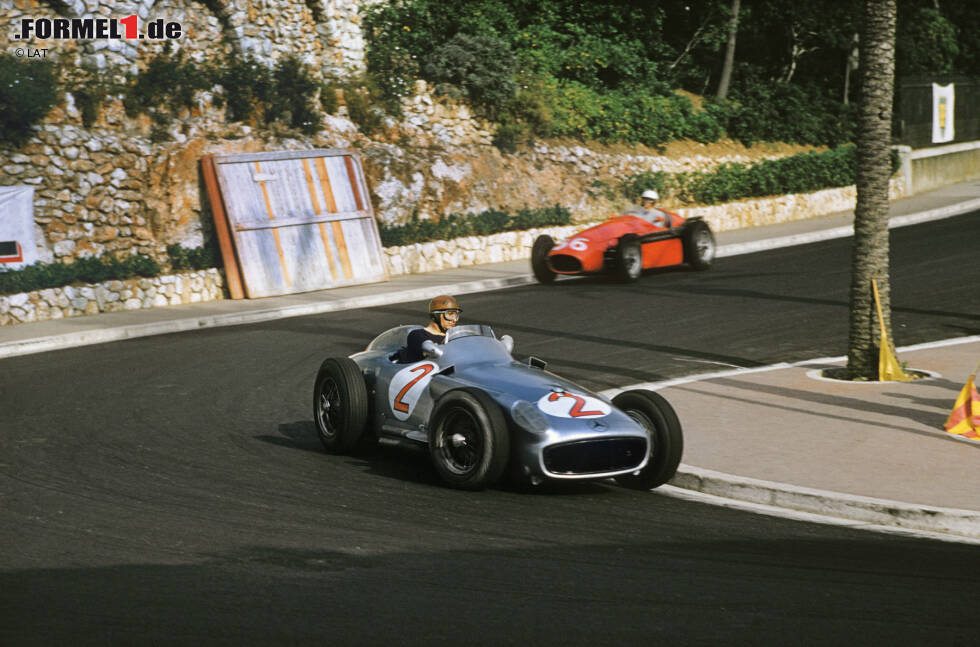
<svg viewBox="0 0 980 647"><path fill-rule="evenodd" d="M357 363L349 357L324 360L313 386L313 422L323 447L332 454L351 452L367 418L367 386Z"/></svg>

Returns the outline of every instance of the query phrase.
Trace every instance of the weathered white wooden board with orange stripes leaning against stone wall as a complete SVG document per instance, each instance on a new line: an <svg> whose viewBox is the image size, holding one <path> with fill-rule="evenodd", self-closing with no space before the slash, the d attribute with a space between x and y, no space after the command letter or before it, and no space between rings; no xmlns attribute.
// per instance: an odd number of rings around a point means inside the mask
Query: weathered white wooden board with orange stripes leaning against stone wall
<svg viewBox="0 0 980 647"><path fill-rule="evenodd" d="M248 298L387 280L352 151L216 155L212 164Z"/></svg>

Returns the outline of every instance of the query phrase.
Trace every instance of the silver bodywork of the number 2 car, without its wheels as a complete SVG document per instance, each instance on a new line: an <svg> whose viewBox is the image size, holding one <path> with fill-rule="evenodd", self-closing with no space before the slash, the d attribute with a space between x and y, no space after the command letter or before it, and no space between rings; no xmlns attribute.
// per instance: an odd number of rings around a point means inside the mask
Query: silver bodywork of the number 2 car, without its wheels
<svg viewBox="0 0 980 647"><path fill-rule="evenodd" d="M608 398L516 361L489 326L457 326L439 345L438 357L399 363L398 349L418 327L385 331L367 350L351 355L368 387L369 431L379 438L427 444L439 398L453 389L476 389L504 414L511 434L510 460L518 473L537 479L595 479L646 465L646 428Z"/></svg>

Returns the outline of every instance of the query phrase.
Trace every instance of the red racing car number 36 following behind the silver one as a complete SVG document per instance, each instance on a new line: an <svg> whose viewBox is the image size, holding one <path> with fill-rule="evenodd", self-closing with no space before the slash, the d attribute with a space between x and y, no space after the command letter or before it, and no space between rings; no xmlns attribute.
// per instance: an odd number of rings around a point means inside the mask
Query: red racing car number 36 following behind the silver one
<svg viewBox="0 0 980 647"><path fill-rule="evenodd" d="M538 236L531 249L531 269L541 283L551 283L558 274L601 272L635 281L653 267L687 263L706 270L714 257L715 236L708 223L651 209L612 216L558 245L551 236Z"/></svg>

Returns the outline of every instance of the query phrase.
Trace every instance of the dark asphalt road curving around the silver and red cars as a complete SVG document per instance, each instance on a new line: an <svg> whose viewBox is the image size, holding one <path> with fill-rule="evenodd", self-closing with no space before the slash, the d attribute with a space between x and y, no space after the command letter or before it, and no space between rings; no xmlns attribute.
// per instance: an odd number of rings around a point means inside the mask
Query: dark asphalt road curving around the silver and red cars
<svg viewBox="0 0 980 647"><path fill-rule="evenodd" d="M980 333L980 218L892 234L900 345ZM463 299L598 389L846 350L850 241ZM0 645L972 644L980 551L322 452L323 358L407 304L0 362Z"/></svg>

